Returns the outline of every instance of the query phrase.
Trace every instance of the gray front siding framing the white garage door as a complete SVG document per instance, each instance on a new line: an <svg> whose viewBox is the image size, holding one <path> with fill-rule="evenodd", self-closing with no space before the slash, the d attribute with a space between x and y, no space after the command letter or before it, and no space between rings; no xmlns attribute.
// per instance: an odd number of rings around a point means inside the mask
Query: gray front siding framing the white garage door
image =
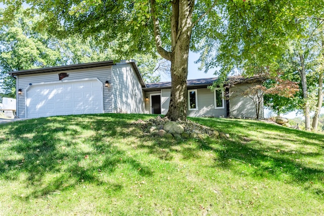
<svg viewBox="0 0 324 216"><path fill-rule="evenodd" d="M25 90L29 83L46 83L59 81L59 73L66 72L69 76L63 80L79 80L86 78L98 78L103 83L111 80L111 66L97 67L90 69L69 70L51 73L39 73L28 75L17 75L17 89L22 89L23 94L17 95L17 115L20 118L26 117L25 112ZM111 87L103 88L104 112L111 113Z"/></svg>

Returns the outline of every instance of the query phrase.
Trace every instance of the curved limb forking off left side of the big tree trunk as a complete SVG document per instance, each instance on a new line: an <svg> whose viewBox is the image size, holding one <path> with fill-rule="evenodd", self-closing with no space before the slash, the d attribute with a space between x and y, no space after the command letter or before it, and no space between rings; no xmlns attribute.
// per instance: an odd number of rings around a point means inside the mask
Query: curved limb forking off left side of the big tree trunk
<svg viewBox="0 0 324 216"><path fill-rule="evenodd" d="M158 19L155 17L154 8L155 8L155 0L151 0L151 17L153 20L155 46L158 54L160 54L163 58L171 61L171 52L166 51L162 46L159 22Z"/></svg>

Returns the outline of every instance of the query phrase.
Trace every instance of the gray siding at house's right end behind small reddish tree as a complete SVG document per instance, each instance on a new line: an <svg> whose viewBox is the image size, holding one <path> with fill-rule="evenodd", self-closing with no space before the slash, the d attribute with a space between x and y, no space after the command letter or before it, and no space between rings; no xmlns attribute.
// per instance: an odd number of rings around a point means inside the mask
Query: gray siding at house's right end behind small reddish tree
<svg viewBox="0 0 324 216"><path fill-rule="evenodd" d="M256 117L256 107L250 97L242 96L242 93L255 84L235 85L229 89L229 116L230 117ZM251 95L251 97L255 97ZM261 103L259 117L264 117L263 99Z"/></svg>

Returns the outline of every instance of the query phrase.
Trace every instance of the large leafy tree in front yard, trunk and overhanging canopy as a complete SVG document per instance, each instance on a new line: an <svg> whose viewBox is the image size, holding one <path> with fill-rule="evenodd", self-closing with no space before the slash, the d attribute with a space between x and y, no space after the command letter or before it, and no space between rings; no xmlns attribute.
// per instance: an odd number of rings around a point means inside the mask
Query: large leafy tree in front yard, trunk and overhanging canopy
<svg viewBox="0 0 324 216"><path fill-rule="evenodd" d="M201 54L206 69L227 75L254 74L269 68L288 41L307 26L300 20L322 17L322 0L58 0L5 1L11 12L26 3L40 14L38 29L59 37L92 38L116 55L159 53L171 61L171 100L167 116L186 120L189 48ZM298 30L299 29L299 30Z"/></svg>

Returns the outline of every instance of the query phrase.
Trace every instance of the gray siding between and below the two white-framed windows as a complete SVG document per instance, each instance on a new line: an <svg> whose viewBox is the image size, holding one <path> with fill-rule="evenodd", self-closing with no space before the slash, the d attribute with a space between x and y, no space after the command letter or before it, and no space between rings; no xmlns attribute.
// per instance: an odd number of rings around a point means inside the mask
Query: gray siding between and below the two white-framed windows
<svg viewBox="0 0 324 216"><path fill-rule="evenodd" d="M188 110L188 116L226 117L226 101L224 100L224 108L215 109L214 92L211 90L207 88L197 89L197 99L198 108L196 110Z"/></svg>

